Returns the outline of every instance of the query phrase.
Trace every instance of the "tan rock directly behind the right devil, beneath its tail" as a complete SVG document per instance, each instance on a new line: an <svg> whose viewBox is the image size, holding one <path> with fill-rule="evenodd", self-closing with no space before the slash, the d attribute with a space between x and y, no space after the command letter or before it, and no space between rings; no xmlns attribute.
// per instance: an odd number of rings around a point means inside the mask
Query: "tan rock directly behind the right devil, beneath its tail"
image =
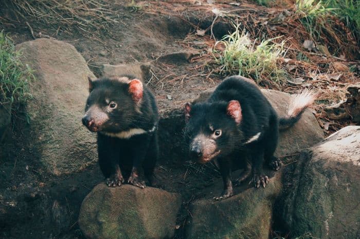
<svg viewBox="0 0 360 239"><path fill-rule="evenodd" d="M194 102L205 101L206 98L214 91L215 88L206 90L200 94ZM261 89L268 101L272 104L278 115L281 117L287 111L291 95L276 91ZM307 109L302 114L299 122L293 127L280 132L279 144L275 155L285 156L303 149L309 148L324 138L324 133L316 121L311 110Z"/></svg>

